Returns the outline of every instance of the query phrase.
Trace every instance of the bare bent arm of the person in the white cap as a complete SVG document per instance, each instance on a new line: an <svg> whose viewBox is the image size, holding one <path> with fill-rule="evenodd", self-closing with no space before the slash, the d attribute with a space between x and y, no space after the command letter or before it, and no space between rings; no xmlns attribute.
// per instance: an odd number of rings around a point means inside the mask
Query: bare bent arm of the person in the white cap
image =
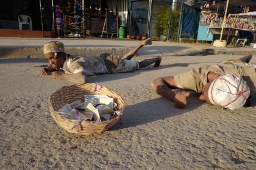
<svg viewBox="0 0 256 170"><path fill-rule="evenodd" d="M174 81L174 77L162 77L157 78L151 82L151 87L157 92L158 95L167 98L174 102L176 107L183 108L187 105L187 98L190 92L187 91L175 91L179 89Z"/></svg>

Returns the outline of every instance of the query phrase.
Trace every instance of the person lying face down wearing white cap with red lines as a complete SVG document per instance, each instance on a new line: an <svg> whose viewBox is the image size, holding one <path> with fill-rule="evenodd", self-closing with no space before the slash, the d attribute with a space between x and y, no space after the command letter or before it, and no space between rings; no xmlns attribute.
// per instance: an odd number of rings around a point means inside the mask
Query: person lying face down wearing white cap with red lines
<svg viewBox="0 0 256 170"><path fill-rule="evenodd" d="M194 90L201 94L200 100L206 100L209 104L238 109L256 92L256 65L249 63L251 58L252 55L247 55L239 60L201 66L190 72L157 78L151 82L151 86L158 95L173 101L179 108L187 105L190 92L186 90Z"/></svg>

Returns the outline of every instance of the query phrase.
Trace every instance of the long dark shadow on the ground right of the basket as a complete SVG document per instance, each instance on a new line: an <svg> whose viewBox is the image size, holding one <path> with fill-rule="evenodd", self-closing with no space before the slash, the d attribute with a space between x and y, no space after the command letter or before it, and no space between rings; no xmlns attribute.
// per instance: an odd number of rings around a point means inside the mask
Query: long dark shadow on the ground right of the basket
<svg viewBox="0 0 256 170"><path fill-rule="evenodd" d="M190 112L203 103L204 101L199 100L199 94L191 92L191 96L188 98L188 106L185 109L177 109L171 101L163 97L126 106L121 122L110 130L135 127L141 124L164 120Z"/></svg>

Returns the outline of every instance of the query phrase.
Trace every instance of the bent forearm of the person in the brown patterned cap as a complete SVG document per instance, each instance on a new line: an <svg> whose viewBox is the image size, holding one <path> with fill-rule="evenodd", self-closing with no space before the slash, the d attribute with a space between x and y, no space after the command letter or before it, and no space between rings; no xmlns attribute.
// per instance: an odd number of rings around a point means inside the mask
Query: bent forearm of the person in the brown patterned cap
<svg viewBox="0 0 256 170"><path fill-rule="evenodd" d="M87 75L85 74L85 72L78 72L72 75L54 72L52 73L52 76L57 80L69 81L74 84L87 83Z"/></svg>

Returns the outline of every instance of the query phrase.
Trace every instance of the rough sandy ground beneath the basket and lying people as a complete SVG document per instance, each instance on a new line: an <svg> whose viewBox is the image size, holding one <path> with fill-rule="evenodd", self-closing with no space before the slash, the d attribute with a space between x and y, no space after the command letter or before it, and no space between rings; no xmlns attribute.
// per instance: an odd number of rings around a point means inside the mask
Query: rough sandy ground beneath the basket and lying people
<svg viewBox="0 0 256 170"><path fill-rule="evenodd" d="M176 109L149 87L157 77L240 57L165 56L158 69L89 77L126 103L120 123L90 136L69 134L51 117L49 96L69 83L41 76L45 60L1 59L0 169L255 169L255 107L221 109L192 94Z"/></svg>

